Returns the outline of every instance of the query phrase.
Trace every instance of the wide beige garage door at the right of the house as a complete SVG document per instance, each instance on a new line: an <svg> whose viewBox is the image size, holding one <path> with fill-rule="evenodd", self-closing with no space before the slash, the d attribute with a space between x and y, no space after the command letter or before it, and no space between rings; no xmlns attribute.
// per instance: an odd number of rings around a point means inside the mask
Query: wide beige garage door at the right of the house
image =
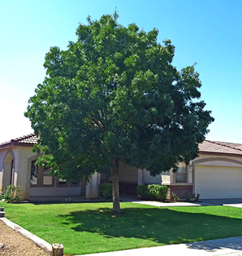
<svg viewBox="0 0 242 256"><path fill-rule="evenodd" d="M195 192L200 198L242 198L242 168L196 165Z"/></svg>

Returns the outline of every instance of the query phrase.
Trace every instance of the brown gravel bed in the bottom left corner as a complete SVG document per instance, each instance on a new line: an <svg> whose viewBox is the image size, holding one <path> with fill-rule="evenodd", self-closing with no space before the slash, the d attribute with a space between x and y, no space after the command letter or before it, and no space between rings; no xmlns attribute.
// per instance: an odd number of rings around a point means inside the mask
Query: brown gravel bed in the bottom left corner
<svg viewBox="0 0 242 256"><path fill-rule="evenodd" d="M49 256L34 242L26 239L0 220L0 255L3 256Z"/></svg>

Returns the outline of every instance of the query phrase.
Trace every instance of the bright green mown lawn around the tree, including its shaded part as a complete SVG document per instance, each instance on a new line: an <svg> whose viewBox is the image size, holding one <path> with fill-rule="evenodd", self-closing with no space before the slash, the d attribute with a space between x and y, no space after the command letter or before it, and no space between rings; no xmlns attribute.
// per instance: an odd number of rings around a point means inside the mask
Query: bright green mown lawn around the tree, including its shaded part
<svg viewBox="0 0 242 256"><path fill-rule="evenodd" d="M181 242L242 236L240 208L224 206L156 208L121 203L7 204L6 217L36 236L63 243L65 254L119 251Z"/></svg>

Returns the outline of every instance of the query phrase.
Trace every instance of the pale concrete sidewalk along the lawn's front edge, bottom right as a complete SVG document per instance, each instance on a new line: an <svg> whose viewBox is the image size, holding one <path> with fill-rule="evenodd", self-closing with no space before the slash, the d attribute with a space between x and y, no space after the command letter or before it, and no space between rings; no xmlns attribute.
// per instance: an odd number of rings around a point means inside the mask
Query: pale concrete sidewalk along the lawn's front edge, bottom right
<svg viewBox="0 0 242 256"><path fill-rule="evenodd" d="M125 251L111 251L88 256L242 256L242 236L228 239L216 239L203 242L191 242L179 245L164 245L151 248L138 248ZM79 255L80 256L80 255Z"/></svg>

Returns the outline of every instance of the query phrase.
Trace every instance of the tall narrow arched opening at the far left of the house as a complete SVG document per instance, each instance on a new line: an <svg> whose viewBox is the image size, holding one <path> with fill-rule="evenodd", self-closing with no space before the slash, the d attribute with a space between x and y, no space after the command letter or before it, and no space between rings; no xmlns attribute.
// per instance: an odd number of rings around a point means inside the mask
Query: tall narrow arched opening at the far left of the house
<svg viewBox="0 0 242 256"><path fill-rule="evenodd" d="M15 167L15 158L13 151L8 151L5 155L3 161L3 179L2 179L2 189L7 188L9 185L14 184L14 167Z"/></svg>

